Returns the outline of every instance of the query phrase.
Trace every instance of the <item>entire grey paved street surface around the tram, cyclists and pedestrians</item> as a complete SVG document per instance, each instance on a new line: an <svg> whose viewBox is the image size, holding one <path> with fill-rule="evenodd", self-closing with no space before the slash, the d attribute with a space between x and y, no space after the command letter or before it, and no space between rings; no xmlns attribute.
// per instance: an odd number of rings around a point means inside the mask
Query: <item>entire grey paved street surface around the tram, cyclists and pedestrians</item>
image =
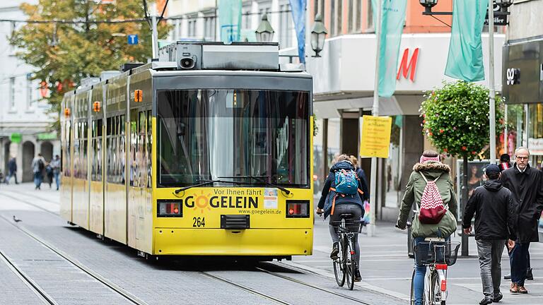
<svg viewBox="0 0 543 305"><path fill-rule="evenodd" d="M58 208L58 193L47 186L42 191L34 191L31 184L0 186L0 251L58 304L130 302L18 227L146 304L179 304L180 298L205 304L240 304L240 300L247 304L406 304L409 297L412 260L407 258L406 232L387 222L378 224L378 237L361 237L363 281L349 292L334 282L327 223L321 218L315 221L313 256L296 257L292 262L251 265L176 258L149 263L127 246L101 241L66 225L55 215ZM14 222L14 215L21 222ZM532 244L530 249L535 274L535 280L526 285L530 294L510 295L504 281L503 304L541 304L543 244ZM477 304L481 299L476 253L470 239L473 257L460 258L450 268L448 304ZM504 273L509 270L506 260L504 253ZM40 297L5 260L0 263L0 277L4 292L0 304L41 304Z"/></svg>

